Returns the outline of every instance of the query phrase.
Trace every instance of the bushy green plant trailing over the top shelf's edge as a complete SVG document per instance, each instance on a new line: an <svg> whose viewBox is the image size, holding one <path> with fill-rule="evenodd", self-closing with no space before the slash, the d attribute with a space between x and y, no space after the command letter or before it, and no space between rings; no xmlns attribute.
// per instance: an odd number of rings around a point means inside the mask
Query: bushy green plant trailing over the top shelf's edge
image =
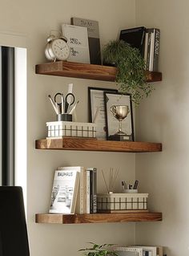
<svg viewBox="0 0 189 256"><path fill-rule="evenodd" d="M132 95L135 104L151 94L153 87L146 83L145 62L139 50L123 40L115 40L103 47L103 62L118 68L116 83L120 92Z"/></svg>

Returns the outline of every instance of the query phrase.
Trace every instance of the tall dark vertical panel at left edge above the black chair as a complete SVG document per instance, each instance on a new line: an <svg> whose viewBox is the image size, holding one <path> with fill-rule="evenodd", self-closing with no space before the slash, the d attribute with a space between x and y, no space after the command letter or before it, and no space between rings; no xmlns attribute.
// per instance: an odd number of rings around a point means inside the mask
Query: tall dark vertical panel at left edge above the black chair
<svg viewBox="0 0 189 256"><path fill-rule="evenodd" d="M14 48L1 47L2 185L14 185Z"/></svg>

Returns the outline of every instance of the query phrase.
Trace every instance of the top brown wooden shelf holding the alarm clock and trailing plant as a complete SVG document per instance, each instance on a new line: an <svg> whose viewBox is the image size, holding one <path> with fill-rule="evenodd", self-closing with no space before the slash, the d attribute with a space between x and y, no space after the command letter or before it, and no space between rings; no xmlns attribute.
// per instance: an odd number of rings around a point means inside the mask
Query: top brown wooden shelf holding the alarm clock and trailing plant
<svg viewBox="0 0 189 256"><path fill-rule="evenodd" d="M116 72L116 67L63 61L42 63L35 67L35 73L40 75L58 75L111 82L115 81ZM145 75L148 83L162 80L162 73L160 72L145 71Z"/></svg>

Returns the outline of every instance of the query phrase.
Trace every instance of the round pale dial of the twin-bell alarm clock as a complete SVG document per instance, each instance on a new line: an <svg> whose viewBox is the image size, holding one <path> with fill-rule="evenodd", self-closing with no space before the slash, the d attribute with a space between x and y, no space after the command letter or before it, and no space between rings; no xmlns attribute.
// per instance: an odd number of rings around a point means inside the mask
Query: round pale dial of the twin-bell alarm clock
<svg viewBox="0 0 189 256"><path fill-rule="evenodd" d="M56 59L65 60L70 55L70 49L62 39L56 39L52 43L52 51Z"/></svg>

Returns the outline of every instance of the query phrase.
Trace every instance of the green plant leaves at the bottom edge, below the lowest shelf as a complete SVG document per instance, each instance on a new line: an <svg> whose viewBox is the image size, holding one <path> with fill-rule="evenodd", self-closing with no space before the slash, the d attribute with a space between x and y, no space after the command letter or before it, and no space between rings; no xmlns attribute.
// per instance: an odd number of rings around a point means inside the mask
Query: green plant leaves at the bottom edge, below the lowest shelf
<svg viewBox="0 0 189 256"><path fill-rule="evenodd" d="M114 246L113 244L103 244L101 246L95 244L94 242L90 242L90 244L92 245L91 248L85 248L79 251L82 251L83 255L87 256L119 256L111 248L111 246Z"/></svg>

